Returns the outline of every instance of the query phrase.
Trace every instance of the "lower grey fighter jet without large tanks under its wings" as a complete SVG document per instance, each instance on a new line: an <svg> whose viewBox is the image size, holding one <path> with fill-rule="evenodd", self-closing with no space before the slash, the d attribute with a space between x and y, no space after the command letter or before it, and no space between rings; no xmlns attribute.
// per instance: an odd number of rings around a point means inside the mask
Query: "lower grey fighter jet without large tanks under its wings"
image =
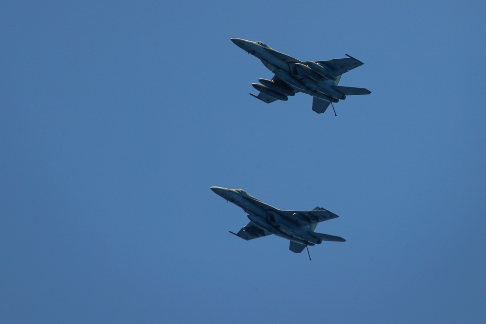
<svg viewBox="0 0 486 324"><path fill-rule="evenodd" d="M234 234L242 239L258 239L275 234L281 238L290 240L290 251L301 253L308 245L321 244L322 241L344 242L339 236L314 232L317 223L338 218L334 213L321 207L315 207L310 211L280 210L263 203L243 189L229 189L222 187L210 187L226 201L233 203L247 213L250 222Z"/></svg>

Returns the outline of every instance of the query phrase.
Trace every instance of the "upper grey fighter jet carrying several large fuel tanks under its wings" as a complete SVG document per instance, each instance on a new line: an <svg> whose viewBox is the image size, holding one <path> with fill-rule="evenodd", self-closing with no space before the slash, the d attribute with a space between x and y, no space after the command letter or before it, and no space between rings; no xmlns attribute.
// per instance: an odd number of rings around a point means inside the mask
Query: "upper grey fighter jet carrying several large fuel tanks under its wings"
<svg viewBox="0 0 486 324"><path fill-rule="evenodd" d="M258 57L266 68L275 73L272 80L258 79L260 83L251 84L260 93L258 96L252 93L250 95L263 102L287 101L288 96L294 96L300 91L313 97L312 110L322 114L329 104L334 110L332 102L345 100L346 96L371 93L365 88L338 85L344 73L364 64L350 55L346 54L347 58L329 61L302 62L275 51L263 42L241 38L231 38L231 40L244 51ZM336 115L335 110L334 115Z"/></svg>

